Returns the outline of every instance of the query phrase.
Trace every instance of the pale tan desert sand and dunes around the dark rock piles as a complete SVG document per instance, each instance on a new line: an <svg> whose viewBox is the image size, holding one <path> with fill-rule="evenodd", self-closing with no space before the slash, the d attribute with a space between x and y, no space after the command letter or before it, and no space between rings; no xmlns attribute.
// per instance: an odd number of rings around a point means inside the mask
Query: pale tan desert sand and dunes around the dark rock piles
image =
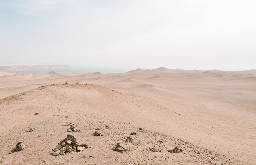
<svg viewBox="0 0 256 165"><path fill-rule="evenodd" d="M256 70L1 72L0 120L6 165L254 165ZM66 132L69 123L82 131ZM96 128L103 136L92 136ZM68 133L92 148L50 155ZM9 154L17 141L26 148ZM113 151L119 142L128 151ZM183 152L168 152L176 146Z"/></svg>

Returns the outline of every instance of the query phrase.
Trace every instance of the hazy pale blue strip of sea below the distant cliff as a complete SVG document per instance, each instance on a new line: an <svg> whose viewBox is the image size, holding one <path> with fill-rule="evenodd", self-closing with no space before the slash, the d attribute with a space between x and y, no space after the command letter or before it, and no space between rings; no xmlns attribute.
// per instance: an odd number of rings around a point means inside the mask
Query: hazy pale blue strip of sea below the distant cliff
<svg viewBox="0 0 256 165"><path fill-rule="evenodd" d="M100 72L100 73L124 73L130 71L129 69L117 69L117 68L52 68L52 69L19 69L19 70L0 70L2 72L9 73L49 73L54 71L58 74L70 74L70 73L87 73L87 72Z"/></svg>

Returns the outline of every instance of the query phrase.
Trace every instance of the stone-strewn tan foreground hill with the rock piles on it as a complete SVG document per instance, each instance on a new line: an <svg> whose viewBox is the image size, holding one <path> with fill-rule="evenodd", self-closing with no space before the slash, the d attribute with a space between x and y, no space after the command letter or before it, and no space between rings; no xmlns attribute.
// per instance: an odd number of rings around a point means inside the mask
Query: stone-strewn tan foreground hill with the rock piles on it
<svg viewBox="0 0 256 165"><path fill-rule="evenodd" d="M121 116L111 118L114 113L107 115L108 111L103 112L103 109L113 109L114 106L104 103L103 99L98 100L101 102L102 110L94 111L95 101L87 99L89 102L92 101L91 104L87 104L83 101L85 98L78 99L81 96L71 98L67 95L70 91L86 93L88 98L99 98L99 94L104 96L102 91L110 93L113 97L122 96L120 92L97 85L55 84L1 99L0 119L4 124L1 126L0 134L0 146L2 146L0 163L4 165L244 164L239 158L233 159L209 150L207 146L196 146L182 139L146 130L140 127L140 123L137 123L137 126L132 125L124 121ZM81 131L74 131L70 135L70 132L67 132L71 127L69 123L73 123L72 127L76 125ZM22 141L26 148L10 153L17 141Z"/></svg>

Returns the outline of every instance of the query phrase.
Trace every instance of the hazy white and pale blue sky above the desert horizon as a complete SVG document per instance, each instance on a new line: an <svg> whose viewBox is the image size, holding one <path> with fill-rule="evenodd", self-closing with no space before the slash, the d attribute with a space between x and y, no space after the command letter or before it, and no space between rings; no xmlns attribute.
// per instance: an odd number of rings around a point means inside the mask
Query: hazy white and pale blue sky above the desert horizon
<svg viewBox="0 0 256 165"><path fill-rule="evenodd" d="M0 0L0 64L256 68L255 0Z"/></svg>

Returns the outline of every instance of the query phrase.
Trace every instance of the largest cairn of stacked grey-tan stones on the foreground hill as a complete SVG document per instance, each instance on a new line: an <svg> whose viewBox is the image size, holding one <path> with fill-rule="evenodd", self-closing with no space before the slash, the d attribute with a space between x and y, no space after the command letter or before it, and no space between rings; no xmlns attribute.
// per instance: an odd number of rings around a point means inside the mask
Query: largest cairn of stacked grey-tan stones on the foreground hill
<svg viewBox="0 0 256 165"><path fill-rule="evenodd" d="M82 152L85 148L88 148L88 144L79 144L74 135L67 134L67 137L61 140L56 148L50 151L53 156L63 155L67 153Z"/></svg>

